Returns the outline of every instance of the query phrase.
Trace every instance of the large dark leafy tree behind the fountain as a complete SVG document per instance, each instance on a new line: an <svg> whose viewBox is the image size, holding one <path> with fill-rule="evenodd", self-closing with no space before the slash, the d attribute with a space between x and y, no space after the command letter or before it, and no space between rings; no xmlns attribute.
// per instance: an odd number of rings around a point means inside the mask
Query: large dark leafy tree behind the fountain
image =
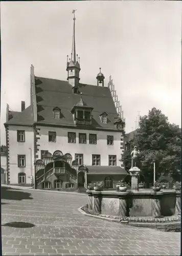
<svg viewBox="0 0 182 256"><path fill-rule="evenodd" d="M133 137L131 148L140 150L140 168L146 181L153 182L153 163L156 179L162 175L179 178L181 169L181 132L179 126L171 124L161 110L153 108L140 118L140 129ZM126 170L131 167L131 151L125 152L123 162Z"/></svg>

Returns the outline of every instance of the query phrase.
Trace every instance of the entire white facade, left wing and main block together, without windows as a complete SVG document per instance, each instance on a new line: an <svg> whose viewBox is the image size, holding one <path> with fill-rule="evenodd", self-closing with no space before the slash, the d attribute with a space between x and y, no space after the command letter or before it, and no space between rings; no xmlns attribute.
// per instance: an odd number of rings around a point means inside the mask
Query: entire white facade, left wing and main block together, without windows
<svg viewBox="0 0 182 256"><path fill-rule="evenodd" d="M53 154L60 150L64 155L70 153L72 160L75 154L83 154L83 164L92 165L92 155L100 155L100 165L108 166L108 156L116 155L117 166L121 166L121 132L92 131L67 129L66 127L38 126L39 137L38 159L41 151ZM25 142L17 141L17 131L25 131ZM56 132L56 142L49 142L49 132ZM68 132L76 133L76 143L68 142ZM86 144L79 143L79 133L86 134ZM89 134L97 135L97 144L89 144ZM113 145L107 145L107 136L113 136ZM26 166L18 167L18 155L26 156ZM120 160L120 161L119 161ZM34 132L32 126L9 125L9 182L18 184L18 173L26 173L26 184L31 184L31 175L34 177Z"/></svg>

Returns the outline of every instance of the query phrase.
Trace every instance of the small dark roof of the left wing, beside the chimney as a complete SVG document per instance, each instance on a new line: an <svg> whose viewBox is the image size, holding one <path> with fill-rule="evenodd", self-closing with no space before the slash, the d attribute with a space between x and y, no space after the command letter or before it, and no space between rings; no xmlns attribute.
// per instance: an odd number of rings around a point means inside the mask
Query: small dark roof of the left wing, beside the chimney
<svg viewBox="0 0 182 256"><path fill-rule="evenodd" d="M31 106L28 106L22 112L11 112L12 118L5 124L15 124L15 125L32 125L33 124L33 114L31 112Z"/></svg>

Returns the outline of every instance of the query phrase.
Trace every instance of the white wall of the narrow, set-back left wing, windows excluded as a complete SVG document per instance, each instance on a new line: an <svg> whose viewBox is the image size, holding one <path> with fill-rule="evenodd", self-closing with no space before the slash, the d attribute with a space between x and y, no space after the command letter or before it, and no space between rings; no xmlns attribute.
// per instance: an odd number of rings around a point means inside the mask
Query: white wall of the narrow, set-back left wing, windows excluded
<svg viewBox="0 0 182 256"><path fill-rule="evenodd" d="M25 142L17 141L17 130L25 131ZM9 125L9 181L10 181L10 184L18 184L18 173L26 173L26 184L31 184L31 175L33 175L33 166L34 166L33 152L34 152L33 127ZM26 156L25 167L18 167L18 155Z"/></svg>

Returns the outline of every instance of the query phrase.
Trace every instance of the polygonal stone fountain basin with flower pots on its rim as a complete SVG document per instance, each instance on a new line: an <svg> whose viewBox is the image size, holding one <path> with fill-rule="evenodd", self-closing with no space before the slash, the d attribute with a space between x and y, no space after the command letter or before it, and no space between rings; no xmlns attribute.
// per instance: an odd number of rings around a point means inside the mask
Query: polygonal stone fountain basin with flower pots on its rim
<svg viewBox="0 0 182 256"><path fill-rule="evenodd" d="M175 190L154 192L87 190L88 208L94 214L119 217L161 217L180 212L180 193Z"/></svg>

